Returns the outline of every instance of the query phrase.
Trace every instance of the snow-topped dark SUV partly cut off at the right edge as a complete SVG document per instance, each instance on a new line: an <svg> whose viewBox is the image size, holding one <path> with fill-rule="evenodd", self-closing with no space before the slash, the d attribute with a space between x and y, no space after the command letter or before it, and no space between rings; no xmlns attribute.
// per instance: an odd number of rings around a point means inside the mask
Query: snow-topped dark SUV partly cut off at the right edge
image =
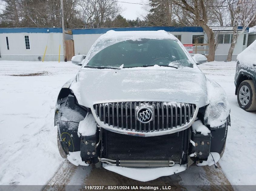
<svg viewBox="0 0 256 191"><path fill-rule="evenodd" d="M235 86L239 106L256 110L256 40L237 56Z"/></svg>

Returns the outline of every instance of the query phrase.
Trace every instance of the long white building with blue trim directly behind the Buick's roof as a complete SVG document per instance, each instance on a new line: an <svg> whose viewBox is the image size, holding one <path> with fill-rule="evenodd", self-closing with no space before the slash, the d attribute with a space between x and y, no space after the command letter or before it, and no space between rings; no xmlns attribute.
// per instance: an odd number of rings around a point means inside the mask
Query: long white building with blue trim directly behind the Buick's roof
<svg viewBox="0 0 256 191"><path fill-rule="evenodd" d="M238 27L241 32L243 27ZM233 37L233 27L212 27L215 33L217 47L215 60L224 61L227 59L228 50ZM93 29L73 29L73 39L75 41L75 54L87 54L92 44L101 34L108 30L116 31L143 31L143 30L165 30L177 37L182 44L193 44L191 54L208 54L207 35L202 27L125 27L125 28L93 28ZM232 60L247 47L248 28L238 36L234 48Z"/></svg>

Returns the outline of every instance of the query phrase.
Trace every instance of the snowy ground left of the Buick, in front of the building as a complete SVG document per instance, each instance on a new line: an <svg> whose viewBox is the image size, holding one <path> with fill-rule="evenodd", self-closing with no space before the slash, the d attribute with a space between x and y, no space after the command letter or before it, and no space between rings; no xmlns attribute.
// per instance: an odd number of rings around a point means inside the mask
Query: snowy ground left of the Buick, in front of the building
<svg viewBox="0 0 256 191"><path fill-rule="evenodd" d="M0 184L43 185L62 163L54 107L71 62L0 61ZM12 76L45 73L35 76Z"/></svg>

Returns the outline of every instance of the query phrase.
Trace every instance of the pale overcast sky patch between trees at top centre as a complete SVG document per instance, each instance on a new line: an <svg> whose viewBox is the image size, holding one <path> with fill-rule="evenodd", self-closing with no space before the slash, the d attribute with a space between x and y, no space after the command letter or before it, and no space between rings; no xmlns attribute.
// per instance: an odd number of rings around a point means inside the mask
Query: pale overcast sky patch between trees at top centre
<svg viewBox="0 0 256 191"><path fill-rule="evenodd" d="M123 2L129 2L129 3L123 3ZM137 17L142 18L142 15L146 14L146 11L143 9L143 5L138 4L131 4L131 3L140 3L145 4L147 2L146 0L118 0L118 4L125 9L121 13L121 15L126 19L136 19Z"/></svg>

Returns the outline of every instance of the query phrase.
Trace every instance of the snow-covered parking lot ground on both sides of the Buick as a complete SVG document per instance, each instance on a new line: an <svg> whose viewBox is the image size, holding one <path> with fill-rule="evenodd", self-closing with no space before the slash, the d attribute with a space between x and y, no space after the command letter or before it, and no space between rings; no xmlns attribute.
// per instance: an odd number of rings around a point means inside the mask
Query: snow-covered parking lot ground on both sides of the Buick
<svg viewBox="0 0 256 191"><path fill-rule="evenodd" d="M235 67L235 62L199 65L224 88L231 105L231 128L218 164L232 185L255 185L256 113L238 106ZM79 68L71 62L0 61L1 185L44 185L58 170L63 159L53 125L55 101Z"/></svg>

